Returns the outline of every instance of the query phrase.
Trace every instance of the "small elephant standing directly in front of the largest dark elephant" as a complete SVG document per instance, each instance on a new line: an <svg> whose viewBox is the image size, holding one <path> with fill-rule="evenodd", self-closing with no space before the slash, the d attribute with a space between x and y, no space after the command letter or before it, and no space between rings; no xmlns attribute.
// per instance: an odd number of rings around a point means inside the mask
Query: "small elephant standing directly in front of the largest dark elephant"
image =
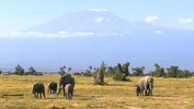
<svg viewBox="0 0 194 109"><path fill-rule="evenodd" d="M72 98L72 92L73 92L73 86L72 84L67 84L65 87L66 90L66 99L71 99Z"/></svg>

